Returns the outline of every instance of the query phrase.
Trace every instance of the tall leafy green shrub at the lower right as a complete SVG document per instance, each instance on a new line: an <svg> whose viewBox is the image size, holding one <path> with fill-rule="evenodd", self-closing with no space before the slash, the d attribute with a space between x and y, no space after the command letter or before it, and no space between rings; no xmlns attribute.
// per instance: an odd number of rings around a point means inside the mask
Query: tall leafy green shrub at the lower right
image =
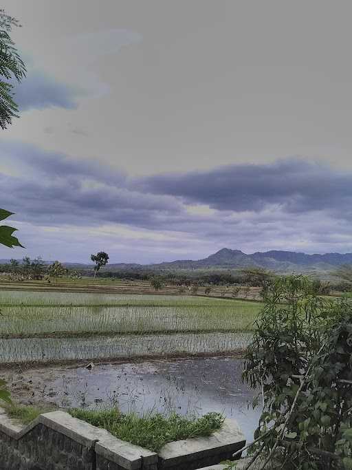
<svg viewBox="0 0 352 470"><path fill-rule="evenodd" d="M318 297L303 276L276 279L264 295L243 372L263 407L252 461L352 469L351 303Z"/></svg>

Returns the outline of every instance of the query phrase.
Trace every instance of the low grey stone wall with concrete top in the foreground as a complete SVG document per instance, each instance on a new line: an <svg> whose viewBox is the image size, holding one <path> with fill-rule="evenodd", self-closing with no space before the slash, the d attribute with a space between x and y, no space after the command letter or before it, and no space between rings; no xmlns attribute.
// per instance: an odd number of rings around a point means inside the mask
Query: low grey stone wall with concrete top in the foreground
<svg viewBox="0 0 352 470"><path fill-rule="evenodd" d="M225 420L213 436L170 442L157 454L65 412L23 426L0 408L1 470L195 470L230 458L244 443L237 423Z"/></svg>

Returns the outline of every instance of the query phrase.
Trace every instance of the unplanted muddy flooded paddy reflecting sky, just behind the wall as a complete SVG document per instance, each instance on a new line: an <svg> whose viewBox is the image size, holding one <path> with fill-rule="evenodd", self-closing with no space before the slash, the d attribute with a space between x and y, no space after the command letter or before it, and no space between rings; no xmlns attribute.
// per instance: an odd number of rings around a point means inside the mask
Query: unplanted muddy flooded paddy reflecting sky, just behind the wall
<svg viewBox="0 0 352 470"><path fill-rule="evenodd" d="M2 371L14 398L56 407L111 407L142 413L223 412L253 437L260 409L248 408L253 392L242 383L243 360L234 357L55 366Z"/></svg>

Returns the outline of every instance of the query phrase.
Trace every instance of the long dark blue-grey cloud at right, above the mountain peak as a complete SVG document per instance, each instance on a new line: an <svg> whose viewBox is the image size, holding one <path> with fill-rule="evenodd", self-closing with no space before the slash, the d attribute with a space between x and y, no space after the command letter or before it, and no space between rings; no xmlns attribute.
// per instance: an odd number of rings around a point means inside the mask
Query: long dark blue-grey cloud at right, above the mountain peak
<svg viewBox="0 0 352 470"><path fill-rule="evenodd" d="M155 175L136 181L144 191L173 195L225 211L262 211L278 204L290 213L352 207L352 173L300 158L234 164L210 171Z"/></svg>

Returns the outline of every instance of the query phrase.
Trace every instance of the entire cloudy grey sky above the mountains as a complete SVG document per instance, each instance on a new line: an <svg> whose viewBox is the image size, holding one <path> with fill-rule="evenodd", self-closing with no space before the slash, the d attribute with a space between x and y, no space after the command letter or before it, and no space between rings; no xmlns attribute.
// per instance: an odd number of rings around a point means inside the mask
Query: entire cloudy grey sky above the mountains
<svg viewBox="0 0 352 470"><path fill-rule="evenodd" d="M352 252L350 1L2 4L28 73L0 258Z"/></svg>

